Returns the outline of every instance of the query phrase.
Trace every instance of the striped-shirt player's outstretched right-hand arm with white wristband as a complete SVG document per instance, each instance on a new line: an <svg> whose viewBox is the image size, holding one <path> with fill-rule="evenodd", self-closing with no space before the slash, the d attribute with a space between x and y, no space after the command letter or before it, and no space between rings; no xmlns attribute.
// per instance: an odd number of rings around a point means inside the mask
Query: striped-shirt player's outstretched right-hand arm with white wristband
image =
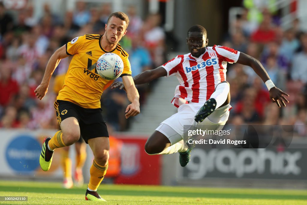
<svg viewBox="0 0 307 205"><path fill-rule="evenodd" d="M262 64L257 59L240 52L240 56L237 63L247 65L253 68L253 70L256 72L257 75L259 75L262 81L266 83L266 86L269 89L270 99L272 100L272 102L275 102L278 107L281 107L279 103L281 102L282 105L286 107L285 102L289 103L289 101L285 98L284 95L289 95L280 90L279 88L275 87L266 70L263 68Z"/></svg>

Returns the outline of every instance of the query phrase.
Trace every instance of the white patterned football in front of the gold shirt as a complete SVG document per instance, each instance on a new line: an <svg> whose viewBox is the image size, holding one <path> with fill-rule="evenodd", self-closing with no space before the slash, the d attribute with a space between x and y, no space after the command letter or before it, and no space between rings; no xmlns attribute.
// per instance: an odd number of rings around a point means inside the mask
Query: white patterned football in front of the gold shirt
<svg viewBox="0 0 307 205"><path fill-rule="evenodd" d="M97 73L104 79L115 80L122 74L123 69L122 59L115 53L105 53L97 60Z"/></svg>

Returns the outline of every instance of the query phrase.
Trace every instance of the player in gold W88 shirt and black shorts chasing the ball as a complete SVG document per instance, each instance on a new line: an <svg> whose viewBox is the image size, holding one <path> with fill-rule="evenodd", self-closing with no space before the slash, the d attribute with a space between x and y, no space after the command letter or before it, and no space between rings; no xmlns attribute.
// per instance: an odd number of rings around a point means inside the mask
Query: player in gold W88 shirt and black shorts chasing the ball
<svg viewBox="0 0 307 205"><path fill-rule="evenodd" d="M64 86L54 103L61 130L52 138L46 137L44 140L40 165L44 171L48 171L53 150L72 145L81 135L94 153L86 200L105 201L97 193L97 188L107 172L110 145L107 126L102 117L100 97L113 81L101 78L96 72L96 61L102 54L113 52L122 58L124 69L121 77L131 102L126 108L125 116L129 118L140 113L139 94L131 77L128 54L118 43L126 34L128 24L126 14L115 12L110 15L105 25L104 35L86 34L63 45L50 57L43 80L35 90L37 98L42 99L60 60L74 55Z"/></svg>

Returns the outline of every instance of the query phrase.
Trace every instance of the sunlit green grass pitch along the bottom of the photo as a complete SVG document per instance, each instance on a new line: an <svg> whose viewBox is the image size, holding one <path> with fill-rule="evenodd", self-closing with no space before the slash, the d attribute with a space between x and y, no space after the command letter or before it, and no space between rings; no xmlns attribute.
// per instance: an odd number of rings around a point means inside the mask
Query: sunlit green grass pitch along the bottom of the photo
<svg viewBox="0 0 307 205"><path fill-rule="evenodd" d="M0 181L0 196L28 196L27 202L0 201L0 204L98 204L85 201L85 190L86 185L63 189L61 183ZM98 193L110 205L307 204L307 190L101 184Z"/></svg>

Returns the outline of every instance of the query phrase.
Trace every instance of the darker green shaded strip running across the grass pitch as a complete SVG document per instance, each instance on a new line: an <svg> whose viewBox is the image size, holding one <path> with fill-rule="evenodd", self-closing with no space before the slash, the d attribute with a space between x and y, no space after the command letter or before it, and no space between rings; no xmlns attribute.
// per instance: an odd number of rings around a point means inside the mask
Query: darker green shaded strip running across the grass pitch
<svg viewBox="0 0 307 205"><path fill-rule="evenodd" d="M35 193L52 193L52 194L85 194L85 189L73 188L35 188L35 187L16 187L16 186L0 186L0 191L11 192L35 192ZM160 197L203 197L203 198L222 198L222 199L301 199L307 200L307 195L290 195L290 194L245 194L245 193L185 193L176 191L139 191L139 190L107 190L100 189L100 195L128 195L128 196L160 196Z"/></svg>

